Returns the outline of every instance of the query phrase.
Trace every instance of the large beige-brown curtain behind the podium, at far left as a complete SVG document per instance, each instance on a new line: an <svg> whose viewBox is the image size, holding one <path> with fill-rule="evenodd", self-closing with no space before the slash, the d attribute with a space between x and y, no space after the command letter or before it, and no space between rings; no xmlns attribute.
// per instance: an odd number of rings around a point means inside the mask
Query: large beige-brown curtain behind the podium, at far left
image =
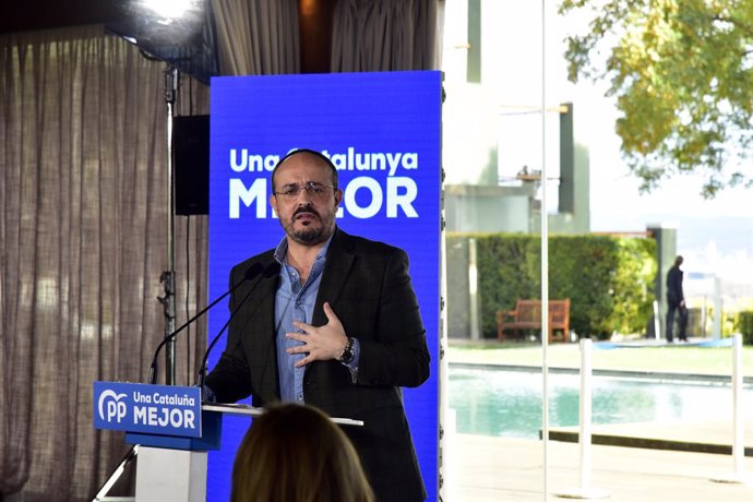
<svg viewBox="0 0 753 502"><path fill-rule="evenodd" d="M101 26L3 35L0 64L0 499L91 500L128 450L93 429L92 382L144 381L164 336L165 64ZM205 86L181 93L206 112ZM205 236L176 220L178 324ZM178 340L179 384L205 338Z"/></svg>

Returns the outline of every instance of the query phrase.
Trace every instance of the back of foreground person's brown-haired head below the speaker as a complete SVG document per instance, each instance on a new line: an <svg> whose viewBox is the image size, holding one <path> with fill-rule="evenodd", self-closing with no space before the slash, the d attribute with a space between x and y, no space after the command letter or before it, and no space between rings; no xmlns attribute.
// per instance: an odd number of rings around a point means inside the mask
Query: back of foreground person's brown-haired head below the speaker
<svg viewBox="0 0 753 502"><path fill-rule="evenodd" d="M373 500L350 440L313 406L271 406L238 447L231 502Z"/></svg>

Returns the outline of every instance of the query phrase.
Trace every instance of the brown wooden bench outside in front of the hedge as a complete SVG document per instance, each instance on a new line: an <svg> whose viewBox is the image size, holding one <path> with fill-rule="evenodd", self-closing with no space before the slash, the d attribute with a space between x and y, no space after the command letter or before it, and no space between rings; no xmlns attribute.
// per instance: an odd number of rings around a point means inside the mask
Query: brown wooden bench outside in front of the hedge
<svg viewBox="0 0 753 502"><path fill-rule="evenodd" d="M497 311L497 337L504 342L504 332L541 330L541 300L517 300L515 310ZM554 342L554 332L561 331L559 342L570 337L570 298L549 300L549 342Z"/></svg>

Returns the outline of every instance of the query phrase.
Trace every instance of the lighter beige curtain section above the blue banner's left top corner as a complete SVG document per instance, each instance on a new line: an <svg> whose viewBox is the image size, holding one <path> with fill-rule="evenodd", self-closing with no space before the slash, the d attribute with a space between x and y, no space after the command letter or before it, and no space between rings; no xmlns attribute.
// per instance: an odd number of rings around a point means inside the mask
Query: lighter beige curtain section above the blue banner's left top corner
<svg viewBox="0 0 753 502"><path fill-rule="evenodd" d="M298 73L298 0L212 0L219 73Z"/></svg>

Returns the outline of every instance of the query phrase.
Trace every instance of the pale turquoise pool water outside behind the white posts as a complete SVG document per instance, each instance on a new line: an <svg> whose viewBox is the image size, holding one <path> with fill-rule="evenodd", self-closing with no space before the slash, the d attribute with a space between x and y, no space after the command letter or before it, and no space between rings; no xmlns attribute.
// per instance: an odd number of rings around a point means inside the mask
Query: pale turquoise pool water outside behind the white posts
<svg viewBox="0 0 753 502"><path fill-rule="evenodd" d="M549 375L549 426L578 425L577 374ZM540 373L451 369L450 407L457 432L538 438L541 429ZM732 416L732 390L720 384L652 382L594 376L591 423L628 423ZM743 414L753 417L753 389L743 390Z"/></svg>

